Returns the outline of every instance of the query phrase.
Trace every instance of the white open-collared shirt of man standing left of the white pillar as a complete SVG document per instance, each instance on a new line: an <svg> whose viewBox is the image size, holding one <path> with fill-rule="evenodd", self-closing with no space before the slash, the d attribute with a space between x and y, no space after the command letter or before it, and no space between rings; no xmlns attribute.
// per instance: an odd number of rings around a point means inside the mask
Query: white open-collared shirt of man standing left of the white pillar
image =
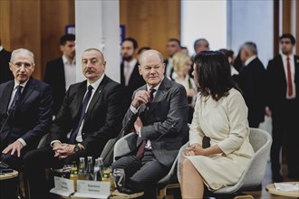
<svg viewBox="0 0 299 199"><path fill-rule="evenodd" d="M71 84L76 82L76 58L72 62L63 55L63 68L65 78L65 90L68 90Z"/></svg>

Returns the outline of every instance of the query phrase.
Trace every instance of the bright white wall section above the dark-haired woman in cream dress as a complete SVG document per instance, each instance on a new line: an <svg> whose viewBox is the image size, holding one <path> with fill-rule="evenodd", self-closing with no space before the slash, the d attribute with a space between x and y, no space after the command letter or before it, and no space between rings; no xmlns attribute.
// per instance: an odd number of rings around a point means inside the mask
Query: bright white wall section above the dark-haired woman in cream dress
<svg viewBox="0 0 299 199"><path fill-rule="evenodd" d="M181 1L181 43L194 54L194 42L206 38L210 50L227 47L227 1Z"/></svg>

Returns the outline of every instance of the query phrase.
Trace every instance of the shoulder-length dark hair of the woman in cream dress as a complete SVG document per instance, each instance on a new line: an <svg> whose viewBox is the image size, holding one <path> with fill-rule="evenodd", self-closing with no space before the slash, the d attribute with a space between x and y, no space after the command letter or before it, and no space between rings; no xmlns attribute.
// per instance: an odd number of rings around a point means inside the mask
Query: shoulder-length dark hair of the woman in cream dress
<svg viewBox="0 0 299 199"><path fill-rule="evenodd" d="M228 90L235 88L241 91L230 74L230 65L221 52L203 51L195 58L199 91L202 96L211 96L213 100L220 100L228 96Z"/></svg>

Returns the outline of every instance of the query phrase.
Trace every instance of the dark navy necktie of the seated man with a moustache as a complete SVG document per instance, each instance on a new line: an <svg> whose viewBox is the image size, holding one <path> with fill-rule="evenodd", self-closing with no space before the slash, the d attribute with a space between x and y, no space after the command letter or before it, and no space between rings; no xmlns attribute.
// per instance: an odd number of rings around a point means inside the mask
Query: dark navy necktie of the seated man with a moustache
<svg viewBox="0 0 299 199"><path fill-rule="evenodd" d="M78 121L77 127L72 128L73 130L72 130L71 137L70 137L70 143L71 144L76 143L76 137L78 135L79 128L82 125L83 118L85 117L85 110L86 110L87 104L90 101L91 96L92 96L92 89L93 89L92 85L89 85L88 86L88 91L87 91L87 93L85 95L85 98L82 102L81 116L80 116L80 119Z"/></svg>

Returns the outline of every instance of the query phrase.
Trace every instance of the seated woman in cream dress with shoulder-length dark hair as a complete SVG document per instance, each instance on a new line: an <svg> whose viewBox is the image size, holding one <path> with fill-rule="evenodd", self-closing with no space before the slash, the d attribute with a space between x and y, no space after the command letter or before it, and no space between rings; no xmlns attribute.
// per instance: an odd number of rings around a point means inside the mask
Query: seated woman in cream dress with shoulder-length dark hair
<svg viewBox="0 0 299 199"><path fill-rule="evenodd" d="M204 185L210 191L235 185L254 155L246 103L227 58L221 52L200 52L193 75L199 93L180 176L186 199L203 198ZM205 136L210 138L207 148L202 147Z"/></svg>

